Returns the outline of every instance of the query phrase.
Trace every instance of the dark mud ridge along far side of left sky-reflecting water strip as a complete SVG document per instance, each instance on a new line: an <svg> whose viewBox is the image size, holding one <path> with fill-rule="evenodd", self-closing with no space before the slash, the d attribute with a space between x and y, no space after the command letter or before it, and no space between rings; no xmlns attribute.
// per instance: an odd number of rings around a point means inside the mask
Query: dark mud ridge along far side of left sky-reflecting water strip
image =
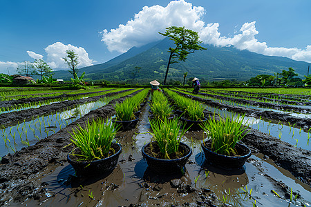
<svg viewBox="0 0 311 207"><path fill-rule="evenodd" d="M30 121L32 119L36 119L37 117L41 117L43 115L48 115L48 114L51 114L53 112L59 112L63 109L75 108L76 106L78 106L80 104L97 101L97 100L102 99L104 97L109 97L112 95L116 95L120 92L126 92L126 91L128 91L128 90L110 92L110 93L105 94L105 95L88 97L86 99L75 99L72 101L61 101L59 103L52 103L50 105L40 106L39 108L30 108L27 110L20 110L20 111L16 111L16 112L1 114L0 115L0 125L4 126L4 127L14 126L18 122L21 123L24 120ZM37 98L39 99L40 97L37 97Z"/></svg>

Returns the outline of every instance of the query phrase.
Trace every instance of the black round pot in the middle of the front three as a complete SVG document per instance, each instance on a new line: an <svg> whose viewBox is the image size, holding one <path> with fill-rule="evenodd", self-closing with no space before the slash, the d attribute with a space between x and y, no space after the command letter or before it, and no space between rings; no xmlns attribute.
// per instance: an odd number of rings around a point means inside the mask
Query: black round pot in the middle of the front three
<svg viewBox="0 0 311 207"><path fill-rule="evenodd" d="M184 149L186 152L184 153L184 157L179 159L158 159L156 157L151 157L147 155L145 149L150 146L150 144L154 144L156 141L149 142L142 147L142 156L146 159L149 168L158 174L173 174L177 172L181 172L182 169L185 172L185 165L187 160L192 155L192 150L187 144L183 144L180 142L180 148Z"/></svg>

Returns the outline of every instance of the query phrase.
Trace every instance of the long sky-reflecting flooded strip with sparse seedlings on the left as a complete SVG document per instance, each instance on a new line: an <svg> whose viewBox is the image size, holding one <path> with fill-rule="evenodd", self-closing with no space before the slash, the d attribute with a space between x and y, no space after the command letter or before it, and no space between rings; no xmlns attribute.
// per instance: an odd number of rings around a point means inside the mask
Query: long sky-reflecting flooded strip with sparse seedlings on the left
<svg viewBox="0 0 311 207"><path fill-rule="evenodd" d="M39 117L32 121L25 121L17 126L10 126L0 130L0 157L20 150L25 146L32 146L39 139L48 137L58 132L62 128L73 123L77 119L84 117L91 110L95 110L113 99L130 94L133 91L122 92L118 95L105 97L95 102L84 103L71 110L64 110L52 115Z"/></svg>

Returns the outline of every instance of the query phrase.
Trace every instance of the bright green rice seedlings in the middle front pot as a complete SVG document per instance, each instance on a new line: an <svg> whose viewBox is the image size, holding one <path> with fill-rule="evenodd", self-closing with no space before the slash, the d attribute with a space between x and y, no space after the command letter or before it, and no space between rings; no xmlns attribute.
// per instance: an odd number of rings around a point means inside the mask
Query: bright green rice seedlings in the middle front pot
<svg viewBox="0 0 311 207"><path fill-rule="evenodd" d="M160 148L163 159L171 159L170 156L178 153L180 139L186 130L179 132L181 124L178 119L149 119L153 133L149 132Z"/></svg>

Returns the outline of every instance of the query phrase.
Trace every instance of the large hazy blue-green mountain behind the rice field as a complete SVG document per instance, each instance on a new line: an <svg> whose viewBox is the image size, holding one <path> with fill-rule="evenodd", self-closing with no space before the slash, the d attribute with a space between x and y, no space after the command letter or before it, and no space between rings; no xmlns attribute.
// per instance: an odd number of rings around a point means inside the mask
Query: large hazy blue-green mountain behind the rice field
<svg viewBox="0 0 311 207"><path fill-rule="evenodd" d="M85 77L93 80L126 81L133 79L133 68L139 66L142 69L136 76L137 80L158 79L162 81L169 59L169 52L167 52L169 47L173 47L172 41L163 39L141 48L131 48L111 61L81 68L79 71L86 71ZM303 77L306 75L309 64L285 57L260 55L234 47L211 45L204 45L204 47L207 50L189 54L185 62L171 64L168 79L182 81L183 73L188 72L188 77L204 78L208 81L219 79L245 81L256 75L273 75L274 72L288 70L290 67L294 68L299 77ZM68 77L69 75L68 73Z"/></svg>

